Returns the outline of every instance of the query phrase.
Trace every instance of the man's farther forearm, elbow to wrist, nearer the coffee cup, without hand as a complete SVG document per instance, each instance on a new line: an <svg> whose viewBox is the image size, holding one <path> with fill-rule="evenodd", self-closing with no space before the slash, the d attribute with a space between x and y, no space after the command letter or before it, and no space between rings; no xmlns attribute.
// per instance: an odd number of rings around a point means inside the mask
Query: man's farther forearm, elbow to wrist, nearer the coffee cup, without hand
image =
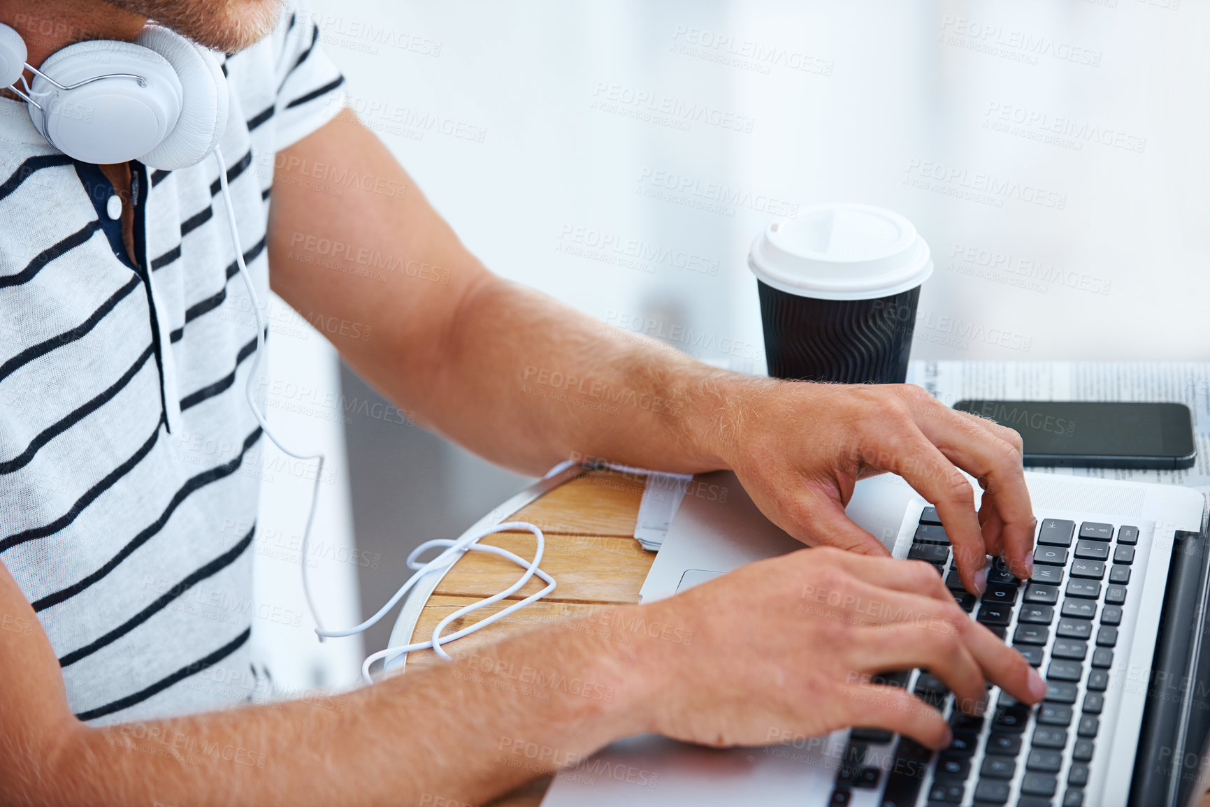
<svg viewBox="0 0 1210 807"><path fill-rule="evenodd" d="M467 295L459 317L446 363L416 407L471 450L534 473L574 456L686 473L724 467L744 398L774 384L497 278Z"/></svg>

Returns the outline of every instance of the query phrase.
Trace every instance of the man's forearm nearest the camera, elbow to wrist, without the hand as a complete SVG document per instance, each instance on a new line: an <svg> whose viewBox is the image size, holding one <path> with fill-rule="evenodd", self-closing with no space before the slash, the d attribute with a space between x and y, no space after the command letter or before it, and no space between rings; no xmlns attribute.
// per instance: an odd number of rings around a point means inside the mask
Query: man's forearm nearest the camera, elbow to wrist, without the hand
<svg viewBox="0 0 1210 807"><path fill-rule="evenodd" d="M555 628L346 696L77 725L0 777L0 802L479 803L643 731L633 652Z"/></svg>

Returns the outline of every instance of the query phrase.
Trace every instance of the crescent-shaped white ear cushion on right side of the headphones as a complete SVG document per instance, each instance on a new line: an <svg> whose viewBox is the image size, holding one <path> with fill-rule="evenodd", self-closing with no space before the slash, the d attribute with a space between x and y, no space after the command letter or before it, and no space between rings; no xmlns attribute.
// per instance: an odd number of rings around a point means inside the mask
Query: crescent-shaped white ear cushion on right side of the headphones
<svg viewBox="0 0 1210 807"><path fill-rule="evenodd" d="M139 160L161 171L195 166L214 150L226 129L229 98L223 68L213 53L167 28L149 25L134 41L168 60L183 91L177 125Z"/></svg>

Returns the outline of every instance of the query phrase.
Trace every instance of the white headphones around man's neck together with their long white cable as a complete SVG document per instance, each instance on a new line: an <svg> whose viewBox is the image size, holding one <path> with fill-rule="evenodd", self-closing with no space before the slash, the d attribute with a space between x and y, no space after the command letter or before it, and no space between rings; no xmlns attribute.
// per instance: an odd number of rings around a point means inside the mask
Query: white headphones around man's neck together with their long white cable
<svg viewBox="0 0 1210 807"><path fill-rule="evenodd" d="M15 29L0 23L0 87L8 87L17 93L29 109L29 119L46 142L56 149L94 165L109 165L138 160L150 168L174 171L195 166L213 154L219 167L219 185L226 207L227 225L235 243L236 265L243 278L244 287L252 299L257 315L257 352L253 354L248 370L246 394L257 422L277 448L298 460L317 460L315 490L307 511L306 525L302 530L300 554L302 571L302 593L307 609L316 622L316 634L319 640L325 638L351 636L361 633L385 617L387 612L422 577L444 572L466 552L480 551L501 555L524 569L524 572L505 590L472 603L443 619L432 633L428 641L409 644L402 647L388 647L371 655L362 664L362 676L367 684L373 684L369 668L379 658L393 658L411 651L431 647L438 656L450 659L442 645L461 639L496 619L525 607L554 590L554 578L538 569L542 561L542 531L525 521L507 521L482 530L468 531L457 541L426 541L408 555L408 565L416 572L405 582L378 613L353 628L327 630L319 621L307 580L307 546L311 524L315 520L316 502L319 497L319 480L323 478L323 455L302 454L286 448L273 436L265 421L264 414L253 396L253 381L258 375L261 357L265 354L264 311L253 287L252 276L244 265L240 249L240 234L236 226L235 208L231 204L231 192L227 189L226 165L219 139L226 129L227 121L227 85L226 76L214 54L189 41L184 36L149 25L143 29L134 42L96 40L69 45L53 53L41 69L29 65L25 59L25 42ZM24 71L34 74L34 82L25 81ZM23 91L16 83L21 81ZM561 466L557 466L559 468ZM528 530L534 534L537 547L532 560L525 560L506 549L480 546L478 542L494 532L506 530ZM444 547L444 552L428 563L421 563L417 557L431 548ZM496 613L479 619L474 624L448 635L442 632L455 618L497 603L520 589L534 576L546 582L546 587Z"/></svg>

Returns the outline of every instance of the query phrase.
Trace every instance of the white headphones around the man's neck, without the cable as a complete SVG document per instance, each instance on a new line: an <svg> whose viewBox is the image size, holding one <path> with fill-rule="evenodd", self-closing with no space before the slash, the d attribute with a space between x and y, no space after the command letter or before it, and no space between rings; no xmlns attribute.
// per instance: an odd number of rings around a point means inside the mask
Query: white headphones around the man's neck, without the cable
<svg viewBox="0 0 1210 807"><path fill-rule="evenodd" d="M47 143L81 162L186 168L206 158L226 129L227 85L218 59L167 28L149 25L133 42L69 45L40 69L27 56L21 34L0 23L0 87L25 100Z"/></svg>

